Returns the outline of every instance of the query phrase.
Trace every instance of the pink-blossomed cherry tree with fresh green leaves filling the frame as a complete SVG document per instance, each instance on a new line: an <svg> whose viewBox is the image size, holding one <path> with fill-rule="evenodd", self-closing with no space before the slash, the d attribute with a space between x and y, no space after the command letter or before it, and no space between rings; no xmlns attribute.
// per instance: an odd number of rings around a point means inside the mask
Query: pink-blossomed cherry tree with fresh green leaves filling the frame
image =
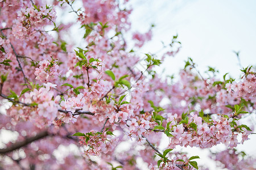
<svg viewBox="0 0 256 170"><path fill-rule="evenodd" d="M0 149L1 168L138 169L142 158L150 169L198 169L193 159L199 156L172 150L219 143L228 150L213 159L229 169L255 168L253 159L241 159L245 153L234 149L251 133L240 121L255 113L251 67L242 70L239 82L227 74L220 80L212 67L203 77L188 58L178 81L161 77L156 70L164 58L179 51L177 36L161 59L140 56L154 25L146 33L134 32L129 49L127 1L81 2L77 9L68 0L0 2L0 96L3 105L11 103L0 122L2 130L18 133ZM57 23L56 9L71 10L75 22ZM79 47L67 37L76 24L84 32ZM162 135L170 139L164 151L158 149ZM126 152L118 150L123 143L130 145ZM57 158L61 146L74 145L78 154ZM224 154L229 156L219 159Z"/></svg>

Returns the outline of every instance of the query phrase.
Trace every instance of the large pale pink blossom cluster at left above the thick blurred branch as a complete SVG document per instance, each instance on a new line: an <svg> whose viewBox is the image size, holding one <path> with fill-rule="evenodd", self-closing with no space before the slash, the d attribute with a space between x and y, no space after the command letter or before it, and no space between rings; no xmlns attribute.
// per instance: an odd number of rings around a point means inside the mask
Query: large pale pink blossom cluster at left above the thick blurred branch
<svg viewBox="0 0 256 170"><path fill-rule="evenodd" d="M54 92L51 90L56 88L56 84L47 83L44 86L24 94L22 102L28 104L27 107L17 106L11 109L11 116L15 121L19 121L20 118L24 121L29 120L39 128L52 124L57 116L60 96L54 97Z"/></svg>

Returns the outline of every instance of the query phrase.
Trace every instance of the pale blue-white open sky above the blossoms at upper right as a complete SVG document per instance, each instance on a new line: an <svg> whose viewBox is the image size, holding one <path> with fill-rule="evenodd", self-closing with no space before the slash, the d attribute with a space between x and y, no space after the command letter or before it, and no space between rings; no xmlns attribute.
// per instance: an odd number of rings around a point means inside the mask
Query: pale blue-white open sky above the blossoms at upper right
<svg viewBox="0 0 256 170"><path fill-rule="evenodd" d="M240 51L243 67L256 64L256 1L155 1L133 0L133 29L146 32L151 23L154 37L143 52L158 51L162 43L178 35L181 50L164 63L167 74L178 73L192 57L201 73L207 66L220 75L239 78L241 71L234 51ZM220 76L220 77L221 77Z"/></svg>

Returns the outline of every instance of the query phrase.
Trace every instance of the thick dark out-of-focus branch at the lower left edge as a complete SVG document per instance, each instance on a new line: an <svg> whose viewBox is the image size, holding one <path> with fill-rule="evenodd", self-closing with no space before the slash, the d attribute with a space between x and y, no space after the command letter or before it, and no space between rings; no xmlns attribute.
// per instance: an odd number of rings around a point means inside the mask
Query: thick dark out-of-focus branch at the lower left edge
<svg viewBox="0 0 256 170"><path fill-rule="evenodd" d="M0 154L7 154L8 152L14 151L20 147L26 146L28 144L30 144L31 142L37 141L39 139L42 139L44 137L47 137L49 134L47 131L42 131L39 134L37 134L35 137L30 137L25 139L22 142L16 142L14 143L12 146L10 146L9 148L5 148L5 149L0 149Z"/></svg>

